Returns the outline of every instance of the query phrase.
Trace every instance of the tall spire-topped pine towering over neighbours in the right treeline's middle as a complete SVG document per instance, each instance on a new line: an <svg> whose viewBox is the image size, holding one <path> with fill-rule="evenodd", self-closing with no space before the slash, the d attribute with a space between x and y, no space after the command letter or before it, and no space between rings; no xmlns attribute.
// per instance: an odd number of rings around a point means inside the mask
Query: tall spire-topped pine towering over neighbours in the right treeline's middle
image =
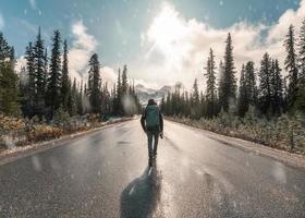
<svg viewBox="0 0 305 218"><path fill-rule="evenodd" d="M220 83L220 104L224 111L229 111L231 107L235 105L236 99L236 78L235 78L235 66L233 60L233 47L231 34L228 34L225 40L225 53L224 53L224 65L223 74Z"/></svg>

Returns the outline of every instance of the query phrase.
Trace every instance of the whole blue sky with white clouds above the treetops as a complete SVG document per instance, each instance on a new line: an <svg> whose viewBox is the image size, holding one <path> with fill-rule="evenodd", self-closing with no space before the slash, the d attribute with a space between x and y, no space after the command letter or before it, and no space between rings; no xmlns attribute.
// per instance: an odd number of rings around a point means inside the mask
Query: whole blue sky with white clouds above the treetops
<svg viewBox="0 0 305 218"><path fill-rule="evenodd" d="M72 77L86 80L87 62L99 55L101 77L117 80L127 64L129 77L158 88L181 82L204 89L209 48L217 63L224 41L233 39L236 76L249 60L258 68L264 52L284 60L283 37L296 34L305 17L305 0L1 0L0 31L16 50L17 69L28 41L41 27L50 50L54 29L69 43ZM282 65L283 68L283 65Z"/></svg>

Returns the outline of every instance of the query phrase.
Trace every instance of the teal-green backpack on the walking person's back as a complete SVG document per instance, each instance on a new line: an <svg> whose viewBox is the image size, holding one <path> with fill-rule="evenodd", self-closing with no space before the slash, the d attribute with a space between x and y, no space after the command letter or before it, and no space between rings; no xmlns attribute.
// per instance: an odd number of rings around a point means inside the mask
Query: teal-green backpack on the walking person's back
<svg viewBox="0 0 305 218"><path fill-rule="evenodd" d="M159 131L160 118L159 108L157 105L148 105L145 109L146 112L146 129L148 131Z"/></svg>

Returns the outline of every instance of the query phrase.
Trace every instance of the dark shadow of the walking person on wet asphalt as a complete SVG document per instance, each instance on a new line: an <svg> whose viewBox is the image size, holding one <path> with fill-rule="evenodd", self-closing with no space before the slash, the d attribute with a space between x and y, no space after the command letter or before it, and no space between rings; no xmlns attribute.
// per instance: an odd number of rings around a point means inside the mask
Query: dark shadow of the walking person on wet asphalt
<svg viewBox="0 0 305 218"><path fill-rule="evenodd" d="M151 217L160 202L161 173L147 167L121 194L121 218Z"/></svg>

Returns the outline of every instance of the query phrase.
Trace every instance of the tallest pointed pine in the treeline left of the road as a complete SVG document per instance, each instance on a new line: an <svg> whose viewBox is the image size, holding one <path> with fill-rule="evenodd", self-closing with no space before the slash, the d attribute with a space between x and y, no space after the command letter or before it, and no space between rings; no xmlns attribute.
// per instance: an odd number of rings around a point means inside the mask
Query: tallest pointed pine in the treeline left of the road
<svg viewBox="0 0 305 218"><path fill-rule="evenodd" d="M45 69L45 47L41 39L40 27L38 28L38 35L35 41L34 48L34 76L35 76L35 96L34 107L35 114L40 119L45 113L45 96L46 96L46 69Z"/></svg>

